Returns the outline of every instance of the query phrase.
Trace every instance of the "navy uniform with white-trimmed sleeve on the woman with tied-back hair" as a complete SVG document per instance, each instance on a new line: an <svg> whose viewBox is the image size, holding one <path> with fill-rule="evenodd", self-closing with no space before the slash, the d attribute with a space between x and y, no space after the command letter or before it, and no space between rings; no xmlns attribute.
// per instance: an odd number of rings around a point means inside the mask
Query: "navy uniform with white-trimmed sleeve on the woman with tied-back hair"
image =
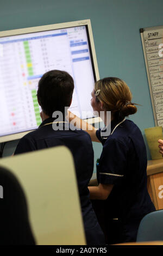
<svg viewBox="0 0 163 256"><path fill-rule="evenodd" d="M110 136L101 135L97 130L103 144L97 180L114 187L105 201L92 200L93 208L108 243L136 241L141 219L155 210L147 191L146 146L139 127L126 119L111 121Z"/></svg>

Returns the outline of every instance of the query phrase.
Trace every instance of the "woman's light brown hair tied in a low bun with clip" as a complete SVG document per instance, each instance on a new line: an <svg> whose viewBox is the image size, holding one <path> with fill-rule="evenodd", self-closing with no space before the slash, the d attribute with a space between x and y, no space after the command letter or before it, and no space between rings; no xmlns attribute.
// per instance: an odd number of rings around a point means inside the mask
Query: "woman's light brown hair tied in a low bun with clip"
<svg viewBox="0 0 163 256"><path fill-rule="evenodd" d="M106 77L95 83L95 91L100 90L97 99L103 102L104 109L124 118L135 114L137 108L131 102L132 95L127 84L117 77Z"/></svg>

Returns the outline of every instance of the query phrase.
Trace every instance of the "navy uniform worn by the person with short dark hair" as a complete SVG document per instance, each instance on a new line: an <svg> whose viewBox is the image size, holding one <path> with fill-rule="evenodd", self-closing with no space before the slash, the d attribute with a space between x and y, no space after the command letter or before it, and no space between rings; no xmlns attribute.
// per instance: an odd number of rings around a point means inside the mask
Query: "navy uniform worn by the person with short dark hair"
<svg viewBox="0 0 163 256"><path fill-rule="evenodd" d="M104 245L104 234L97 222L95 212L92 209L89 190L87 188L93 172L93 148L91 138L85 131L74 130L74 126L73 130L70 130L70 124L68 123L62 124L64 127L63 130L54 131L52 124L49 124L53 121L54 118L44 120L37 130L24 136L17 145L15 155L58 145L65 145L71 150L76 167L87 244ZM57 172L55 168L54 172ZM68 172L66 167L65 172ZM65 198L65 200L67 199Z"/></svg>

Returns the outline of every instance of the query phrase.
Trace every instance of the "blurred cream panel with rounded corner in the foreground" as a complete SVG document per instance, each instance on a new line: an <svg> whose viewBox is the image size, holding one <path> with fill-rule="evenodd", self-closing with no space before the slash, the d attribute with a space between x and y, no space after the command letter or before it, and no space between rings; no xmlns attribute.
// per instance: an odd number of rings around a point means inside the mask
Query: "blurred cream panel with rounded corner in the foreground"
<svg viewBox="0 0 163 256"><path fill-rule="evenodd" d="M24 190L37 245L86 244L70 150L55 147L5 157L0 166L8 168Z"/></svg>

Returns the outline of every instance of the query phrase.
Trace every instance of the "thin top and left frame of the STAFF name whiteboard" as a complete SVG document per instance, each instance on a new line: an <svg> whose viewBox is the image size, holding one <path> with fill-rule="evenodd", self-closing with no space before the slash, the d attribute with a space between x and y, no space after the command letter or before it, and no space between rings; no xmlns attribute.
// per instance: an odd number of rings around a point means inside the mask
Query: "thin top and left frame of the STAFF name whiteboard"
<svg viewBox="0 0 163 256"><path fill-rule="evenodd" d="M149 86L149 92L151 95L151 102L152 102L153 115L154 115L154 123L155 123L155 126L158 126L158 120L157 120L157 116L156 116L156 109L155 109L154 96L153 96L153 90L152 90L152 83L151 83L151 76L150 76L150 72L149 72L148 58L147 58L147 53L146 53L145 38L144 38L144 34L143 34L145 31L151 31L151 30L155 30L155 29L163 29L163 26L140 28L140 35L141 35L143 53L144 53L144 57L145 57L146 71L147 71L147 77L148 77L148 86Z"/></svg>

